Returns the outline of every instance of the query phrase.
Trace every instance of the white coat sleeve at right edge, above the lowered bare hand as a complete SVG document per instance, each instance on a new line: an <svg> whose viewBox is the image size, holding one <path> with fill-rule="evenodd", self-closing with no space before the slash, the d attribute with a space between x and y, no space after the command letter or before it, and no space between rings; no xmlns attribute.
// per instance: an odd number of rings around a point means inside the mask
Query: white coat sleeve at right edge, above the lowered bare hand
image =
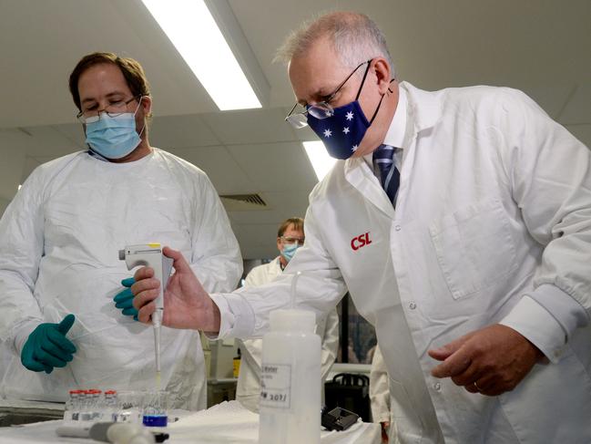
<svg viewBox="0 0 591 444"><path fill-rule="evenodd" d="M556 362L591 312L591 153L525 94L501 91L497 135L506 181L528 232L545 246L535 290L502 324Z"/></svg>

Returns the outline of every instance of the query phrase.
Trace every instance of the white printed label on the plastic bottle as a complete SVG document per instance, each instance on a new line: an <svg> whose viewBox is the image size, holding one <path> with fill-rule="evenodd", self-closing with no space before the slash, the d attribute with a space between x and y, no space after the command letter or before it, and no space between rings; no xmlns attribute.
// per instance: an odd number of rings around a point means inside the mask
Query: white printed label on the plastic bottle
<svg viewBox="0 0 591 444"><path fill-rule="evenodd" d="M260 372L260 406L290 408L291 367L286 364L263 364Z"/></svg>

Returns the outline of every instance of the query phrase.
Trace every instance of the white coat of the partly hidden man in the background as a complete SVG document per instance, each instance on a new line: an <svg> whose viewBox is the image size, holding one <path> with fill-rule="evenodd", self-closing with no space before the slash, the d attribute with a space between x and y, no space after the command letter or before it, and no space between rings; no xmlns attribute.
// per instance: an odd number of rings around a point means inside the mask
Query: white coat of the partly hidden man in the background
<svg viewBox="0 0 591 444"><path fill-rule="evenodd" d="M246 287L268 284L282 273L280 258L254 267L246 276ZM339 347L339 315L336 310L319 320L316 333L321 336L321 380L328 377ZM251 411L259 411L260 400L260 359L262 339L240 341L241 362L236 387L236 399Z"/></svg>

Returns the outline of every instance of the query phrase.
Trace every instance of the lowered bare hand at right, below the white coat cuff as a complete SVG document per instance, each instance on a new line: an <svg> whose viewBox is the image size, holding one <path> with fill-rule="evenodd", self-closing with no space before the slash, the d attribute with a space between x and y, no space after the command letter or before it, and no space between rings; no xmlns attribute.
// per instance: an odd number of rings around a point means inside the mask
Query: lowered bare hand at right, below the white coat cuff
<svg viewBox="0 0 591 444"><path fill-rule="evenodd" d="M495 324L429 350L429 356L443 361L433 377L451 377L470 393L494 397L513 390L544 355L513 328Z"/></svg>

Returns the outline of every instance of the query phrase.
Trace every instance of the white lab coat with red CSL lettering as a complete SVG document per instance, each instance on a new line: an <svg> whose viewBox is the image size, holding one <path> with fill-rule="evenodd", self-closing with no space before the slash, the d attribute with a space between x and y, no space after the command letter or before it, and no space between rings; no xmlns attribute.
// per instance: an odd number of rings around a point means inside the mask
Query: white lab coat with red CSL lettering
<svg viewBox="0 0 591 444"><path fill-rule="evenodd" d="M499 397L431 377L438 362L427 355L513 314L524 294L576 301L588 315L589 150L512 89L401 88L409 138L395 211L363 159L338 161L311 193L289 273L215 296L220 336L260 335L301 271L298 305L327 313L346 285L375 326L401 442L591 442L584 320L564 325L550 364ZM353 250L364 233L371 243Z"/></svg>

